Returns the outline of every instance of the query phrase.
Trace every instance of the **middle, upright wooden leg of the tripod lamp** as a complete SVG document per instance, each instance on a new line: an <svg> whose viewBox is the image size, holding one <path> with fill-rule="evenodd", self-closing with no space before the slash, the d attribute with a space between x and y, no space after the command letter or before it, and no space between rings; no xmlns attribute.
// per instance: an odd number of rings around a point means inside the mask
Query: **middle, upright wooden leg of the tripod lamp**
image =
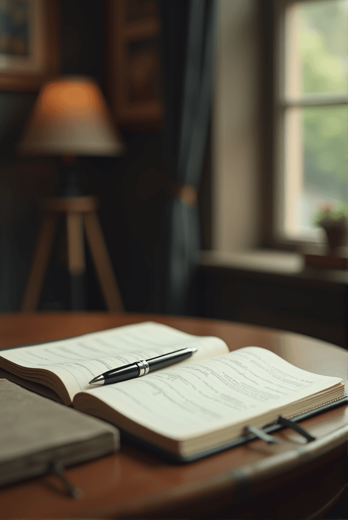
<svg viewBox="0 0 348 520"><path fill-rule="evenodd" d="M71 285L71 308L86 308L85 253L83 242L83 217L81 213L67 213L68 270Z"/></svg>

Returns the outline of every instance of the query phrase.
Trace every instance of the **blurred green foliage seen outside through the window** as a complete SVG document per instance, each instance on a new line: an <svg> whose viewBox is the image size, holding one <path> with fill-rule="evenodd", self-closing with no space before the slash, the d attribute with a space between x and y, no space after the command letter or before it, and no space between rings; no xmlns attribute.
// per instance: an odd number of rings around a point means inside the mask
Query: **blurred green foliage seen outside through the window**
<svg viewBox="0 0 348 520"><path fill-rule="evenodd" d="M301 4L302 94L346 96L348 2ZM302 109L304 187L347 203L347 108Z"/></svg>

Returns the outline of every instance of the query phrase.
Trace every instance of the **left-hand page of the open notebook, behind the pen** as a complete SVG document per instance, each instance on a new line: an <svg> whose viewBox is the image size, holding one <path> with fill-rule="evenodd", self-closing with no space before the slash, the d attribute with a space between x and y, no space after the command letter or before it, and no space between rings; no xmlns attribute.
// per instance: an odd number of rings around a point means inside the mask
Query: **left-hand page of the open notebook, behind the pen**
<svg viewBox="0 0 348 520"><path fill-rule="evenodd" d="M197 352L182 363L228 352L224 341L217 337L194 336L162 323L145 322L5 350L0 365L14 371L7 360L27 369L49 370L59 376L72 399L77 392L91 388L88 382L103 372L185 347L196 347ZM22 368L18 373L22 377L30 375L30 371L23 372Z"/></svg>

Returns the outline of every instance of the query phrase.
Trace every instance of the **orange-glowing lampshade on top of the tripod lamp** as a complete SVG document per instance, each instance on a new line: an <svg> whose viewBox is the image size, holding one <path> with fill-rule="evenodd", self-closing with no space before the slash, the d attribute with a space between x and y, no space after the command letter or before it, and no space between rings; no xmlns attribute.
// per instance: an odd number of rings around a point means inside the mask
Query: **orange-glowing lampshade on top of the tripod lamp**
<svg viewBox="0 0 348 520"><path fill-rule="evenodd" d="M82 76L42 87L19 144L29 155L120 155L123 149L98 84Z"/></svg>

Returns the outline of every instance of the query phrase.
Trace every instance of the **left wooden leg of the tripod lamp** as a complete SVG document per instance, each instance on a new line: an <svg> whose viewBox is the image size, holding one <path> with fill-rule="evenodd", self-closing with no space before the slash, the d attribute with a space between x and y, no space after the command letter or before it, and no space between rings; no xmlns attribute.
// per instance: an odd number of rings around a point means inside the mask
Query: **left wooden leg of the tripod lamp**
<svg viewBox="0 0 348 520"><path fill-rule="evenodd" d="M55 227L56 215L54 213L46 213L37 237L33 263L22 303L21 310L23 312L33 312L36 309L52 247Z"/></svg>

